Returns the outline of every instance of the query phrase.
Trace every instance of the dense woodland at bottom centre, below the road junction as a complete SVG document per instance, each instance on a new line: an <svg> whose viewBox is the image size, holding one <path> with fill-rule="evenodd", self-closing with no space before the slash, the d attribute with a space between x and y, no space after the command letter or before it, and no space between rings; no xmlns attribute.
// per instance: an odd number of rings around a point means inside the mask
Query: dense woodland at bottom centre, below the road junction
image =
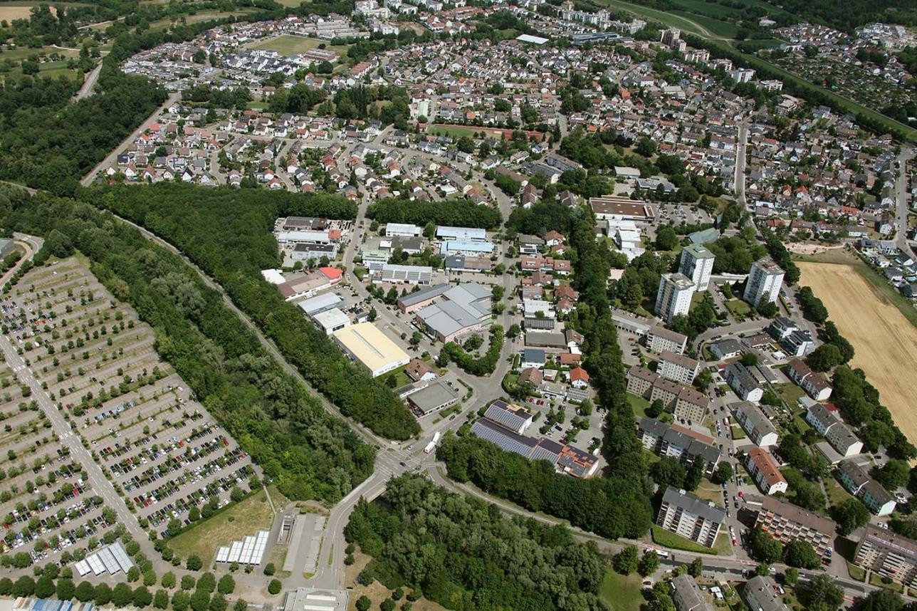
<svg viewBox="0 0 917 611"><path fill-rule="evenodd" d="M509 520L496 505L447 493L416 475L360 499L345 529L373 557L359 583L378 579L460 611L598 611L604 563L594 543L564 527Z"/></svg>

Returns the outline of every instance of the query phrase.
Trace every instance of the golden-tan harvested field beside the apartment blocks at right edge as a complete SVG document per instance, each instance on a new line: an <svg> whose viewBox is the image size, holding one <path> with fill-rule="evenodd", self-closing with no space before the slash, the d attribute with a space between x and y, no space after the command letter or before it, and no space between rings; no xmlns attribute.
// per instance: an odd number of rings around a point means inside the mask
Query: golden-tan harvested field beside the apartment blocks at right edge
<svg viewBox="0 0 917 611"><path fill-rule="evenodd" d="M797 262L800 284L808 284L828 308L837 328L854 345L851 366L866 372L895 423L917 444L917 328L878 294L853 265Z"/></svg>

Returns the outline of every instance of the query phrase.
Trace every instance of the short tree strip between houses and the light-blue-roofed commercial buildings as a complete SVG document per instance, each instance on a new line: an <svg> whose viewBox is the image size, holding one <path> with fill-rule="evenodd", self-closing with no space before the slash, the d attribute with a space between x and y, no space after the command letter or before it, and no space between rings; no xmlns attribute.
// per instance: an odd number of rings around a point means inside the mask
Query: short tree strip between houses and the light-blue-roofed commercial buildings
<svg viewBox="0 0 917 611"><path fill-rule="evenodd" d="M499 210L475 204L467 199L412 202L409 199L392 197L370 204L366 216L378 223L413 223L421 227L427 223L434 223L450 227L495 229L503 222Z"/></svg>

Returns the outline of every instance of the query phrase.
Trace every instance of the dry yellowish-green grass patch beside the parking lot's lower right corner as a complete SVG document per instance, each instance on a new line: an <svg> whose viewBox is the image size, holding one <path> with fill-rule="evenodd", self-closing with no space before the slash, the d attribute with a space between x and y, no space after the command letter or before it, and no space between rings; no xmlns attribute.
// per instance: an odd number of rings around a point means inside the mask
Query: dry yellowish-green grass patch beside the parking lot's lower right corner
<svg viewBox="0 0 917 611"><path fill-rule="evenodd" d="M271 491L275 501L275 494ZM270 530L274 521L271 505L261 490L238 505L232 505L216 516L199 521L178 537L169 539L169 547L181 558L194 554L207 566L214 560L217 548L244 539L259 530Z"/></svg>

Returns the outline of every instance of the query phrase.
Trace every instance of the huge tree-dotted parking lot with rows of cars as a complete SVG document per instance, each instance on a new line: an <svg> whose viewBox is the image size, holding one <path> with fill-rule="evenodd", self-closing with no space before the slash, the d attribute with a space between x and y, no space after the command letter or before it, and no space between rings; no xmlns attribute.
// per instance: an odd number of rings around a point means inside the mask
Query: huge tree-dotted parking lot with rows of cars
<svg viewBox="0 0 917 611"><path fill-rule="evenodd" d="M192 505L226 505L232 488L248 482L249 457L160 360L152 329L79 261L28 272L0 309L8 339L72 428L61 436L78 435L108 478L96 485L113 486L91 489L86 468L70 460L39 402L4 364L5 550L79 560L97 539L116 537L112 490L141 527L161 533L173 517L187 523Z"/></svg>

